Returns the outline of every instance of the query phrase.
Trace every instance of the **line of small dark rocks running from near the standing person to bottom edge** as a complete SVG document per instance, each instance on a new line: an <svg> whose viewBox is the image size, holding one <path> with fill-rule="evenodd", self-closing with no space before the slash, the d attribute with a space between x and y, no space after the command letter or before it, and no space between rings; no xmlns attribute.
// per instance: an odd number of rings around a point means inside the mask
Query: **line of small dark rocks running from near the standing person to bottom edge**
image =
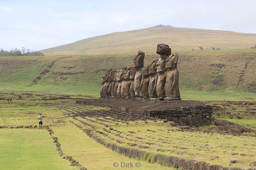
<svg viewBox="0 0 256 170"><path fill-rule="evenodd" d="M50 132L50 135L52 135L54 132L52 131L52 129L50 129L48 126L45 126L45 129L47 129ZM62 159L68 159L69 161L71 161L71 166L79 166L80 170L87 170L84 166L80 165L78 161L76 161L75 159L72 158L72 156L67 156L65 155L61 148L60 148L60 143L58 142L58 138L57 137L53 137L53 142L56 143L55 146L57 148L58 153L60 154L60 156L62 157Z"/></svg>

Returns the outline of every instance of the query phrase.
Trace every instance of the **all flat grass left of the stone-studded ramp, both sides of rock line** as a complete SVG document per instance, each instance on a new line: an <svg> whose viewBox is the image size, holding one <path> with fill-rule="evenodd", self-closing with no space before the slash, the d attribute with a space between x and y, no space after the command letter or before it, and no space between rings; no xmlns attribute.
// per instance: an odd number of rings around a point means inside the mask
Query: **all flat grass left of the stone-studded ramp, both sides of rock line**
<svg viewBox="0 0 256 170"><path fill-rule="evenodd" d="M46 129L25 128L25 126L38 126L37 116L42 113L44 125L49 125L58 137L62 151L72 156L87 169L122 169L114 168L113 163L132 162L138 160L129 159L112 152L104 146L87 137L80 129L68 122L68 117L59 110L59 104L74 103L75 100L42 100L57 98L60 95L42 93L0 93L0 98L12 97L13 103L7 104L0 100L0 169L79 169L70 166L70 162L61 159L56 151L49 132ZM17 96L22 96L18 100ZM79 98L81 96L73 96ZM53 104L53 105L52 105ZM98 109L98 108L97 108ZM61 122L60 122L61 121ZM23 125L23 128L15 128ZM13 127L11 129L10 127ZM170 169L158 164L149 164L140 161L141 166L134 169Z"/></svg>

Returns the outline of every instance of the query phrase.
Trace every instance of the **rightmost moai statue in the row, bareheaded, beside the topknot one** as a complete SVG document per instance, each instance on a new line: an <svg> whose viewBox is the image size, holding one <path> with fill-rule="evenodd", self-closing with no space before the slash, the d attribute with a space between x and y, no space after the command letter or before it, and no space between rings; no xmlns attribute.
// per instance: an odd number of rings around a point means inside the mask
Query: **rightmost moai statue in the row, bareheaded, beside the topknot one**
<svg viewBox="0 0 256 170"><path fill-rule="evenodd" d="M166 59L166 82L164 86L166 97L180 100L179 70L177 69L179 54L171 54Z"/></svg>

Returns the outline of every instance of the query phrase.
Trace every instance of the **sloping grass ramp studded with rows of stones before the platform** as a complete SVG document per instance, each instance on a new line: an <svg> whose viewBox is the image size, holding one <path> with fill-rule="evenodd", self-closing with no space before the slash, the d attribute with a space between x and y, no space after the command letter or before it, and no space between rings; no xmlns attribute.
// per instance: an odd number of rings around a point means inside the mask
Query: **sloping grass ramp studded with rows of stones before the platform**
<svg viewBox="0 0 256 170"><path fill-rule="evenodd" d="M87 106L69 105L66 109L74 113L76 110L82 108L86 110L86 107ZM99 120L97 116L78 117L78 120L91 124L95 128L84 125L80 121L71 120L84 129L92 130L93 133L106 142L114 143L122 147L144 150L151 152L153 155L159 153L167 156L178 156L185 159L205 161L225 167L241 168L249 168L249 164L256 159L254 153L256 149L255 137L231 136L217 133L181 132L176 131L176 127L168 126L161 121L148 121L145 125L143 121L129 122L128 124L120 122L116 124L115 119L111 117L102 117L101 119L102 120ZM104 122L106 119L108 119L109 122ZM114 129L111 130L111 133L107 133L108 136L97 133L97 130L104 132L104 129L110 129L106 128L105 124ZM131 134L129 131L133 133ZM121 144L116 140L121 140L123 143ZM129 143L135 143L136 145L131 146ZM143 149L140 146L146 146L148 148ZM232 153L237 154L232 155ZM240 154L246 154L246 156L241 156ZM217 158L213 159L213 157ZM239 162L230 164L230 158L236 158Z"/></svg>

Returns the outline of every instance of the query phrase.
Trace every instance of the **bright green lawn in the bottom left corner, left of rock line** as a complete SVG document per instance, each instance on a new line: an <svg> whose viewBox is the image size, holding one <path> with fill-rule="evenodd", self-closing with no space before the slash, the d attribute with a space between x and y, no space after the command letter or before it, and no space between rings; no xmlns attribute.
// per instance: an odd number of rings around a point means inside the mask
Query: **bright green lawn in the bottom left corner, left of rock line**
<svg viewBox="0 0 256 170"><path fill-rule="evenodd" d="M0 129L0 169L78 170L61 159L47 130Z"/></svg>

